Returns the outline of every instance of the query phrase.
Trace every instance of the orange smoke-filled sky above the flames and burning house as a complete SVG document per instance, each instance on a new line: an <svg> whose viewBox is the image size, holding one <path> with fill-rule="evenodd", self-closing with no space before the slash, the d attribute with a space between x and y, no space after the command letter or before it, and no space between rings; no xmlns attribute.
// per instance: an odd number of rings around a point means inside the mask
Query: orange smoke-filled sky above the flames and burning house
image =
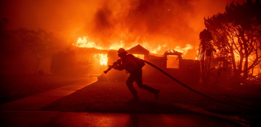
<svg viewBox="0 0 261 127"><path fill-rule="evenodd" d="M151 47L199 44L204 17L223 13L232 0L1 0L8 29L45 29L74 43L89 36L101 46L143 42ZM241 0L244 1L244 0ZM194 58L195 50L190 51ZM189 58L189 57L188 57Z"/></svg>

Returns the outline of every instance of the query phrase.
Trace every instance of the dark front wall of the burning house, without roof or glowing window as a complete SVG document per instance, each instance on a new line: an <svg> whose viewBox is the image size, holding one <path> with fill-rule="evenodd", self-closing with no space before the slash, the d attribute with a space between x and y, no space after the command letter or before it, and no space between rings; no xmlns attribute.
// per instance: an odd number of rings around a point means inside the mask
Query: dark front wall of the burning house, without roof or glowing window
<svg viewBox="0 0 261 127"><path fill-rule="evenodd" d="M132 54L138 54L132 52ZM139 54L141 52L139 51ZM113 62L119 59L117 51L108 52L108 65L112 65ZM186 85L197 85L199 83L199 61L190 59L179 59L179 69L167 69L167 59L162 56L152 56L144 54L144 59L155 66L159 67L166 73L170 74L177 80L185 83ZM157 82L157 83L174 83L171 78L161 73L157 69L146 64L143 68L143 81L144 82ZM125 71L117 71L112 69L108 74L108 77L114 81L126 81L128 74Z"/></svg>

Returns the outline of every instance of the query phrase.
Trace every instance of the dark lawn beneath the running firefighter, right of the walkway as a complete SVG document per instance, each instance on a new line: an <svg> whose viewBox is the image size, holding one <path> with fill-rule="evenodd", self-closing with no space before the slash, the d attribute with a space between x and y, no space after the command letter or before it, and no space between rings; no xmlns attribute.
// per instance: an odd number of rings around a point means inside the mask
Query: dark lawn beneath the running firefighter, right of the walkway
<svg viewBox="0 0 261 127"><path fill-rule="evenodd" d="M117 112L117 113L156 113L156 114L205 114L240 124L260 124L260 88L241 87L237 90L220 87L191 86L214 98L248 107L244 109L219 103L198 95L179 84L148 84L160 89L160 97L136 87L141 101L129 102L131 96L124 82L95 82L69 96L42 108L54 111L77 112ZM203 89L204 88L204 89ZM205 89L208 88L208 89ZM259 89L259 90L258 90ZM253 109L253 110L252 110Z"/></svg>

